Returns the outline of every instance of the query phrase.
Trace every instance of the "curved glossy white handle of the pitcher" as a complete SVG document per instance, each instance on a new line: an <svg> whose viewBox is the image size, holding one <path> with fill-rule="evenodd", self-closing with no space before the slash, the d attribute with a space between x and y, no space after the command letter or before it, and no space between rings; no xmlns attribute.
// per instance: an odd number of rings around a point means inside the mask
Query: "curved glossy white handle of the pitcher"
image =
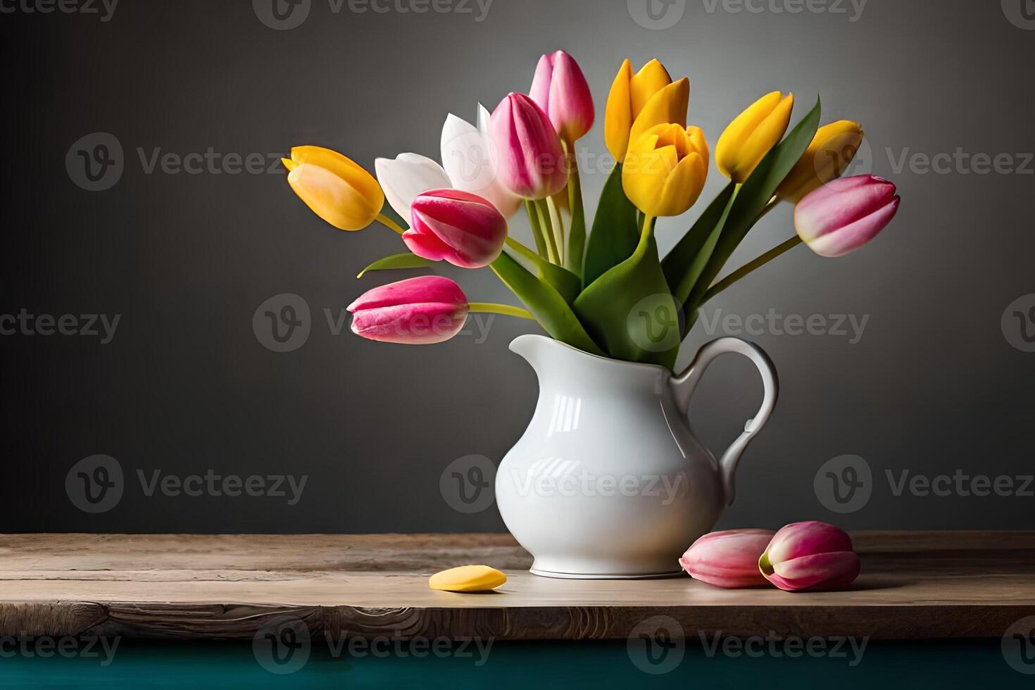
<svg viewBox="0 0 1035 690"><path fill-rule="evenodd" d="M716 357L727 353L743 355L751 360L755 366L758 367L759 373L762 374L762 386L765 391L762 398L762 407L759 409L758 414L747 420L747 423L744 424L743 433L733 442L733 445L727 448L718 461L727 505L731 505L735 496L734 474L737 471L737 463L740 462L740 456L744 453L744 449L747 448L747 444L755 438L755 434L765 425L769 419L769 415L773 412L773 408L776 407L776 396L779 394L779 381L776 378L776 367L773 366L769 355L753 342L747 342L740 338L719 338L701 348L698 356L693 358L693 361L686 367L686 370L673 379L673 392L679 411L684 415L687 414L690 407L690 397L693 395L693 390L698 387L698 383L700 383L701 377L704 376L708 365Z"/></svg>

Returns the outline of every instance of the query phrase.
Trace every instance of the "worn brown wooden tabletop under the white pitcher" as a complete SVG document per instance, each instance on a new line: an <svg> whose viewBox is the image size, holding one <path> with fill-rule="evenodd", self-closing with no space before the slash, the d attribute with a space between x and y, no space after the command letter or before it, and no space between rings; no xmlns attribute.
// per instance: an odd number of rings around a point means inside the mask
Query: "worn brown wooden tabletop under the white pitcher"
<svg viewBox="0 0 1035 690"><path fill-rule="evenodd" d="M999 637L1035 616L1035 532L862 532L848 592L720 590L677 577L527 572L509 535L0 535L0 635L310 634L623 638L653 617L686 636ZM492 594L427 588L445 568L507 574Z"/></svg>

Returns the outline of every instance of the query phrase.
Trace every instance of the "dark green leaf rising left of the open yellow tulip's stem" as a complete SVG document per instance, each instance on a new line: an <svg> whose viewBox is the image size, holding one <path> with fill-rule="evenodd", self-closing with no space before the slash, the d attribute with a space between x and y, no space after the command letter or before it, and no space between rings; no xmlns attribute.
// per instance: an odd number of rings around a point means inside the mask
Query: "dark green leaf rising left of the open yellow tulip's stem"
<svg viewBox="0 0 1035 690"><path fill-rule="evenodd" d="M622 164L617 163L603 185L593 217L593 229L586 246L583 284L592 284L609 269L632 256L639 242L637 207L622 189Z"/></svg>

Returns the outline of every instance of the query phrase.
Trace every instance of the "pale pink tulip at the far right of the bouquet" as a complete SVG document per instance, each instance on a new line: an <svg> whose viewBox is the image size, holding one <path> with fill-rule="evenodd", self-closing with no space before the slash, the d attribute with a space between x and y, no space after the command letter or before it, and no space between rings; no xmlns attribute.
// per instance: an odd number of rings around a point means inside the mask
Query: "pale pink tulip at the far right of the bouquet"
<svg viewBox="0 0 1035 690"><path fill-rule="evenodd" d="M891 222L901 198L895 185L874 175L845 177L798 202L798 236L821 257L842 257L858 249Z"/></svg>

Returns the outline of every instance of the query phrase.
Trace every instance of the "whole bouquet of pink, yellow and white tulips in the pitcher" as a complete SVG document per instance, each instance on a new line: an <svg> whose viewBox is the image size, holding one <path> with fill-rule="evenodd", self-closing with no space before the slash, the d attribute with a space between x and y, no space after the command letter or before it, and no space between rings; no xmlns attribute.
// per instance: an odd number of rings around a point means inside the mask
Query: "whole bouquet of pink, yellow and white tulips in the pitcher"
<svg viewBox="0 0 1035 690"><path fill-rule="evenodd" d="M823 257L862 246L899 203L894 185L881 178L837 179L862 142L858 123L821 127L817 100L788 132L794 96L774 91L718 138L715 164L730 182L661 257L655 221L689 210L710 167L705 133L686 125L688 100L688 80L673 81L657 60L635 73L628 60L622 64L604 121L615 163L588 233L575 143L593 125L593 97L563 51L542 56L527 95L507 95L492 114L479 107L476 125L450 115L442 164L403 153L379 158L375 179L315 146L293 148L284 162L291 187L330 224L356 231L380 221L402 236L407 251L374 262L360 276L440 261L487 267L524 304L469 302L453 280L425 275L353 302L358 335L441 342L460 332L469 312L485 311L535 320L552 337L591 354L672 368L709 299L801 242ZM408 228L384 213L386 198ZM796 205L797 234L720 279L737 245L781 201ZM508 219L522 208L534 248L508 233ZM658 347L656 328L672 325L677 337Z"/></svg>

